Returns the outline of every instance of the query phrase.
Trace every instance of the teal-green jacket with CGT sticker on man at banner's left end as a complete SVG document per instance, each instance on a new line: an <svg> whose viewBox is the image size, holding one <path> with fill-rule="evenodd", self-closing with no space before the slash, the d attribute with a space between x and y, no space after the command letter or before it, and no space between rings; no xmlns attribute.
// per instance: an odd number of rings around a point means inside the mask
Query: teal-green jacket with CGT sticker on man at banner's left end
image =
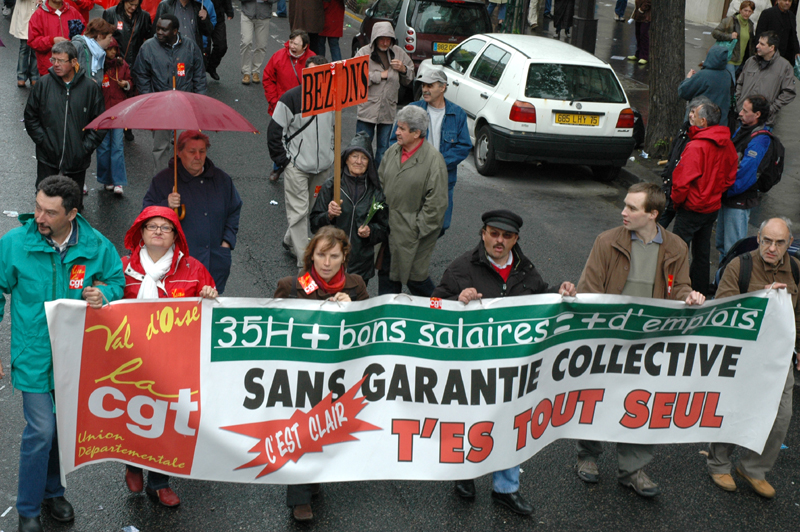
<svg viewBox="0 0 800 532"><path fill-rule="evenodd" d="M45 302L81 299L83 288L94 281L105 283L98 288L109 301L122 297L125 276L117 250L80 214L76 220L78 241L63 261L39 233L32 214L21 215L22 227L0 238L0 320L3 294L11 294L11 384L23 392L54 388ZM80 334L75 331L76 337Z"/></svg>

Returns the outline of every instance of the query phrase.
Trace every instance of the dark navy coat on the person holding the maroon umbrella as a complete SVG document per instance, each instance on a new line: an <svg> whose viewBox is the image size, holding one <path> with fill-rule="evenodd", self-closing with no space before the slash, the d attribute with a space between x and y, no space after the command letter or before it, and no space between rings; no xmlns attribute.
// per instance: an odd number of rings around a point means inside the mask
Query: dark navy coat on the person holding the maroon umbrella
<svg viewBox="0 0 800 532"><path fill-rule="evenodd" d="M153 178L144 196L142 208L150 205L168 207L167 196L175 183L173 159ZM186 217L181 221L189 255L203 263L211 273L221 294L231 273L231 251L236 247L239 232L239 212L242 199L231 177L206 158L203 173L194 177L178 159L178 193L186 205ZM222 242L230 244L230 249Z"/></svg>

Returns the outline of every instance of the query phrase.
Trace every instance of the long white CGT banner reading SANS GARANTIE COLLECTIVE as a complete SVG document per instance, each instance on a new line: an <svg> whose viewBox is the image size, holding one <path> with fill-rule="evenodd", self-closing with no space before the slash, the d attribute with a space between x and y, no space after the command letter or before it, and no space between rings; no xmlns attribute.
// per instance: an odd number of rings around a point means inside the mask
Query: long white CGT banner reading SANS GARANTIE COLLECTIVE
<svg viewBox="0 0 800 532"><path fill-rule="evenodd" d="M275 484L474 478L562 438L760 452L795 336L785 290L45 305L65 472Z"/></svg>

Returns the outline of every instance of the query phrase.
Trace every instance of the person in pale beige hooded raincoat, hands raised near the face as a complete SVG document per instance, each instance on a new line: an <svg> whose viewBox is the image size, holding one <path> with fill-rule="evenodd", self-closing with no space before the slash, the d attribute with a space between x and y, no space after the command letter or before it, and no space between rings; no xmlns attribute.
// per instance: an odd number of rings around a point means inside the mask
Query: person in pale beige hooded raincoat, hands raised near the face
<svg viewBox="0 0 800 532"><path fill-rule="evenodd" d="M375 164L380 166L383 154L389 148L389 137L397 113L397 94L400 85L407 87L414 81L414 63L397 46L392 24L378 22L372 27L370 44L356 52L369 56L369 94L367 101L358 106L356 132L363 131L369 142L378 130L378 147Z"/></svg>

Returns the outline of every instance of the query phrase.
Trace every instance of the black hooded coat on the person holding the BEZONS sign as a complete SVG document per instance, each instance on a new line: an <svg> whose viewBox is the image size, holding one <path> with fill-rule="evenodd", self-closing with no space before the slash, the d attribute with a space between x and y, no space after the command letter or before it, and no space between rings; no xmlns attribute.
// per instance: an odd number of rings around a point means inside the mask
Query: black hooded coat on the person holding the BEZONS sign
<svg viewBox="0 0 800 532"><path fill-rule="evenodd" d="M322 185L317 201L311 209L309 221L311 232L316 233L321 227L333 225L345 233L350 240L350 258L347 260L347 273L360 275L365 281L375 274L375 245L388 242L389 214L386 208L386 196L383 195L378 171L370 157L366 176L356 184L356 179L345 175L345 162L354 150L366 153L355 147L348 147L342 152L342 214L333 221L328 218L328 204L333 200L333 176ZM369 154L367 154L369 157ZM358 188L356 192L354 189ZM356 196L354 198L353 196ZM358 228L367 219L372 200L383 203L384 208L375 213L369 222L369 237L358 236ZM355 204L353 200L355 199Z"/></svg>

